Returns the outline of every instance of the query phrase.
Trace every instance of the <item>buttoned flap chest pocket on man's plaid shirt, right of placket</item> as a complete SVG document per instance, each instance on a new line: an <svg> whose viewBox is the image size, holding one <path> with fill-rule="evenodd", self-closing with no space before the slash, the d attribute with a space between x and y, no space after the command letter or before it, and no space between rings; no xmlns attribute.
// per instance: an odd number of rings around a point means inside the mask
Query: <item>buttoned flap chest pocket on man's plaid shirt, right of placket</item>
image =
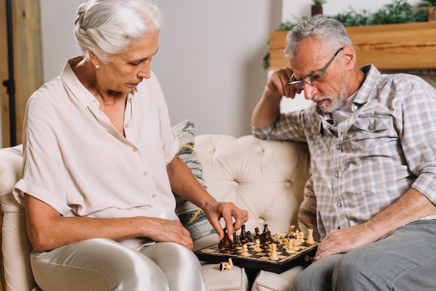
<svg viewBox="0 0 436 291"><path fill-rule="evenodd" d="M391 116L359 116L350 131L350 147L355 150L379 149L384 143L398 139Z"/></svg>

